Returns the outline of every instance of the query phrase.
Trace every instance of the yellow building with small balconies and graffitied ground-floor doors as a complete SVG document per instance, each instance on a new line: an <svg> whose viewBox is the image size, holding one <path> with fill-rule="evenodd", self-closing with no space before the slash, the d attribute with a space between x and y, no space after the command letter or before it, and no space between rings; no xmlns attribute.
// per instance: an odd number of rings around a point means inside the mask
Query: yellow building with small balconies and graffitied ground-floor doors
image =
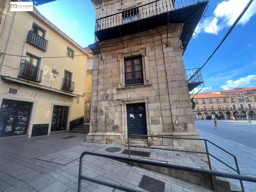
<svg viewBox="0 0 256 192"><path fill-rule="evenodd" d="M10 12L9 0L0 32L0 138L68 131L84 115L88 52L35 7Z"/></svg>

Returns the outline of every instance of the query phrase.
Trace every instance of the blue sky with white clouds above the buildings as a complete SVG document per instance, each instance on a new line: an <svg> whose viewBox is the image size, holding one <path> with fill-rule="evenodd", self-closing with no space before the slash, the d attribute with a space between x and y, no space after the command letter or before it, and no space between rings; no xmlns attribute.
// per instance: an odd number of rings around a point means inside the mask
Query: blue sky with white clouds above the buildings
<svg viewBox="0 0 256 192"><path fill-rule="evenodd" d="M231 24L248 0L210 0L206 13L198 25L197 35L184 54L185 68L204 64L222 40ZM48 20L86 47L94 42L95 10L90 0L57 0L38 10ZM202 70L205 88L202 91L256 86L256 0L241 22Z"/></svg>

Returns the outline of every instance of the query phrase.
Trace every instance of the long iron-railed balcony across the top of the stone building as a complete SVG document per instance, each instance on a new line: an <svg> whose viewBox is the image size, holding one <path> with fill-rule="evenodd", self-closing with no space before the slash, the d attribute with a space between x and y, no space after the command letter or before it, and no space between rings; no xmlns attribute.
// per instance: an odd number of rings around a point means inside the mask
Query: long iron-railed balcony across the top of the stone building
<svg viewBox="0 0 256 192"><path fill-rule="evenodd" d="M155 0L96 19L95 35L102 41L139 34L169 23L184 23L180 39L186 47L207 4L207 0Z"/></svg>

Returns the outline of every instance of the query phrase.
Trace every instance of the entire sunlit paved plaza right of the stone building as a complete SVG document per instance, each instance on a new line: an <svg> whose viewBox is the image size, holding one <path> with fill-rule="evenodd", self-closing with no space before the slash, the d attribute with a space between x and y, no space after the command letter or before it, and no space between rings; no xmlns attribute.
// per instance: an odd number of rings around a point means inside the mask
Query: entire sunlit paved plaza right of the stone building
<svg viewBox="0 0 256 192"><path fill-rule="evenodd" d="M206 138L237 157L240 171L242 174L256 176L256 148L245 144L256 144L256 123L248 124L246 121L218 121L218 130L214 130L212 120L196 121L197 131L202 138ZM228 135L229 134L229 135ZM224 138L225 137L225 138ZM226 139L229 137L230 140ZM232 141L232 140L235 141ZM245 144L242 144L245 143ZM253 145L254 146L254 145ZM218 148L209 145L209 150L214 155L220 157L224 162L235 167L234 159L221 152ZM217 160L211 158L212 164L220 171L231 172L226 166L222 166ZM234 173L234 172L233 172ZM238 183L238 182L236 182ZM256 184L244 182L246 192L256 192Z"/></svg>

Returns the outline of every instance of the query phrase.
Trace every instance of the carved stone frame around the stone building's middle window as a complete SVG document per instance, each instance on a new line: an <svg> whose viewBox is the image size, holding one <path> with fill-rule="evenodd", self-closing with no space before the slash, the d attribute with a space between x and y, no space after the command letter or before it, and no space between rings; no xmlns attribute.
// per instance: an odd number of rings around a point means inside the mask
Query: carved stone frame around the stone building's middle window
<svg viewBox="0 0 256 192"><path fill-rule="evenodd" d="M149 72L149 63L148 63L148 51L147 48L139 48L137 50L126 50L125 52L118 53L118 61L119 61L119 76L118 76L118 88L127 88L127 87L134 87L125 86L124 81L124 59L130 57L140 56L142 58L142 70L143 70L143 81L144 85L150 84L150 72Z"/></svg>

